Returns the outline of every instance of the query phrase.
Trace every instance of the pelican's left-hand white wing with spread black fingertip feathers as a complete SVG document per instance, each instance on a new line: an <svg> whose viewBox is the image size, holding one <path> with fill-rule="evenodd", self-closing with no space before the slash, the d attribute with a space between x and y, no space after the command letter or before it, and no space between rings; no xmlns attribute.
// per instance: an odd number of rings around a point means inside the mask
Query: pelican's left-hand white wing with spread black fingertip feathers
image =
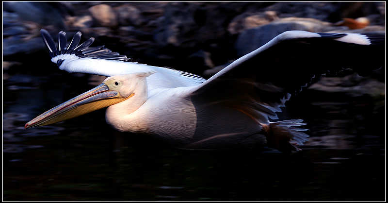
<svg viewBox="0 0 388 203"><path fill-rule="evenodd" d="M49 49L51 61L56 63L61 70L67 72L90 73L103 76L113 76L137 72L155 71L147 78L148 89L159 87L175 88L179 86L199 85L205 81L197 75L163 67L147 66L127 62L129 58L104 46L90 47L94 42L91 37L81 45L81 32L77 32L67 45L66 33L58 34L58 49L49 32L42 29L43 40Z"/></svg>

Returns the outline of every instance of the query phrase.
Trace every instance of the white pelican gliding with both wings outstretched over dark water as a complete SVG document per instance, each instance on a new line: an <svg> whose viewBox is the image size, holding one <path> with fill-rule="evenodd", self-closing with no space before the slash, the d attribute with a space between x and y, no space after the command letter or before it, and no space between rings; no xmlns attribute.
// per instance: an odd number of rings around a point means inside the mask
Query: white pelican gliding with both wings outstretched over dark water
<svg viewBox="0 0 388 203"><path fill-rule="evenodd" d="M81 32L58 48L41 30L51 61L68 72L107 76L97 87L46 111L25 128L49 125L107 107L106 121L121 132L157 135L178 148L266 146L300 150L302 119L274 121L291 96L324 74L383 68L384 34L288 31L237 59L208 80L192 73L128 62L125 55L79 45ZM272 121L270 121L272 120Z"/></svg>

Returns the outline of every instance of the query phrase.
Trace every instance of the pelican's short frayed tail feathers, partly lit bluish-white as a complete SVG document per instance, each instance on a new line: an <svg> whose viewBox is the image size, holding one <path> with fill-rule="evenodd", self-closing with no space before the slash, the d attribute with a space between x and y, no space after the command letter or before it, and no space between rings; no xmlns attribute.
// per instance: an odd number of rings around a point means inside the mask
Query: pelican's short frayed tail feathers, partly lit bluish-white
<svg viewBox="0 0 388 203"><path fill-rule="evenodd" d="M297 146L303 145L309 135L303 133L308 129L297 128L306 125L303 120L282 120L263 124L263 131L267 137L268 147L275 148L281 152L292 150L300 151Z"/></svg>

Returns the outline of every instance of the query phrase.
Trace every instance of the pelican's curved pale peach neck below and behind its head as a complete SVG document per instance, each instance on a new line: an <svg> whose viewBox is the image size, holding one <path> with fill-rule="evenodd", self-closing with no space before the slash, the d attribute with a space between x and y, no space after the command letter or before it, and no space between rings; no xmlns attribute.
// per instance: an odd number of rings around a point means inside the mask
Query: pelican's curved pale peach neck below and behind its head
<svg viewBox="0 0 388 203"><path fill-rule="evenodd" d="M133 96L127 100L109 106L106 110L106 121L117 130L126 125L125 118L142 106L148 97L146 78L141 79L133 91Z"/></svg>

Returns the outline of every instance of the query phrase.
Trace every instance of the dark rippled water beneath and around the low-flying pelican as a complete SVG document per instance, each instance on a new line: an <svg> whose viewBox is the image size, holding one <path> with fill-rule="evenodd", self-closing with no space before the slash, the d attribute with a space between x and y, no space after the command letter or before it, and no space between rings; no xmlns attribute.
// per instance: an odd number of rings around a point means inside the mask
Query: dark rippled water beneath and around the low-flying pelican
<svg viewBox="0 0 388 203"><path fill-rule="evenodd" d="M381 97L307 90L287 103L311 130L292 154L173 149L123 134L104 110L46 127L24 124L93 86L54 72L3 80L4 201L384 201Z"/></svg>

